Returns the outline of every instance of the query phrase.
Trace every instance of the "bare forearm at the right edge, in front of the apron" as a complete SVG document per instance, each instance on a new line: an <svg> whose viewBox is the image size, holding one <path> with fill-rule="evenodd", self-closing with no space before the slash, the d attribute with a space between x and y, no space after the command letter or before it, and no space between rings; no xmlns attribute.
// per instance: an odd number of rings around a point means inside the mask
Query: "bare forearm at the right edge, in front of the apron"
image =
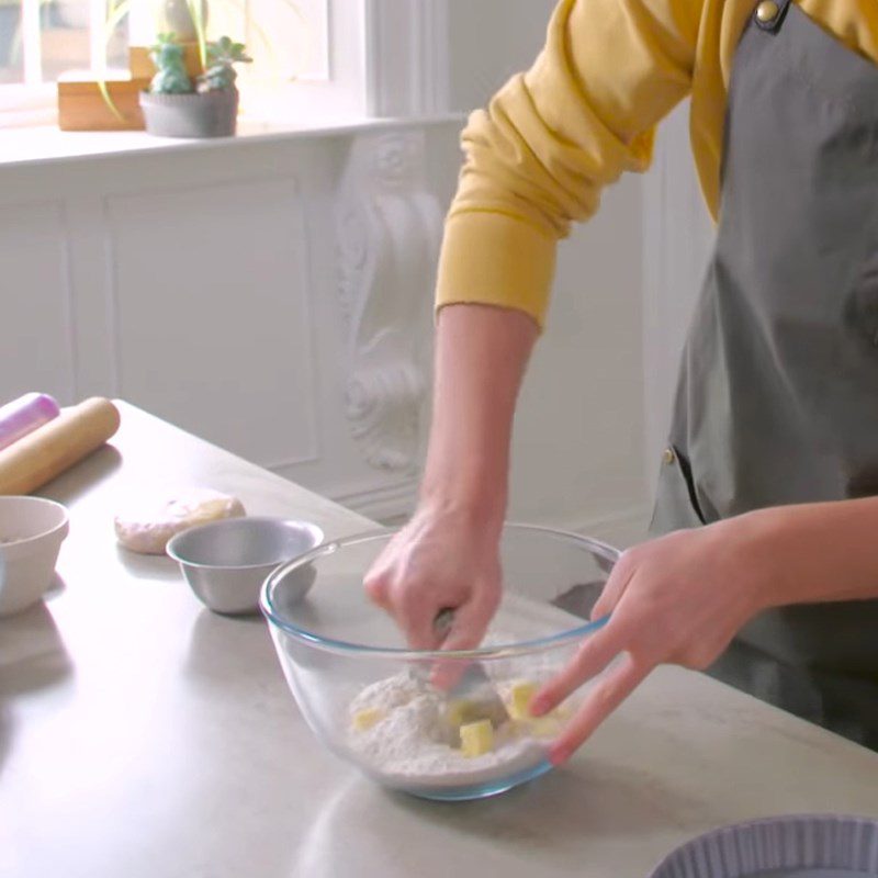
<svg viewBox="0 0 878 878"><path fill-rule="evenodd" d="M761 606L878 598L878 497L741 517L768 575Z"/></svg>

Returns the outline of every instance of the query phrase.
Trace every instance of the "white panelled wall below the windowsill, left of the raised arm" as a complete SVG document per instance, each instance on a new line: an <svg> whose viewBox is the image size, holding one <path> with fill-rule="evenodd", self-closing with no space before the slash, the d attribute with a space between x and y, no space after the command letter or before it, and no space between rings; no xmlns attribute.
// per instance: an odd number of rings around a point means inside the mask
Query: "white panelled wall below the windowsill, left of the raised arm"
<svg viewBox="0 0 878 878"><path fill-rule="evenodd" d="M458 128L0 165L0 399L120 396L368 515L406 508Z"/></svg>

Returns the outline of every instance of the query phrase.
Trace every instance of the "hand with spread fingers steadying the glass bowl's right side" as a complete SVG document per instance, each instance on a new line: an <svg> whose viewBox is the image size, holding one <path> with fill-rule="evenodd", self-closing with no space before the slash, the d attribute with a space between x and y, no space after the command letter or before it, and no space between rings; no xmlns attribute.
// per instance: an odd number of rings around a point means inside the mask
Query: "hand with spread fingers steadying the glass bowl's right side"
<svg viewBox="0 0 878 878"><path fill-rule="evenodd" d="M763 607L770 576L750 516L697 530L679 530L624 552L595 605L592 618L610 621L537 694L541 716L574 689L617 665L594 688L553 743L550 758L565 762L595 729L660 664L708 667L739 629Z"/></svg>

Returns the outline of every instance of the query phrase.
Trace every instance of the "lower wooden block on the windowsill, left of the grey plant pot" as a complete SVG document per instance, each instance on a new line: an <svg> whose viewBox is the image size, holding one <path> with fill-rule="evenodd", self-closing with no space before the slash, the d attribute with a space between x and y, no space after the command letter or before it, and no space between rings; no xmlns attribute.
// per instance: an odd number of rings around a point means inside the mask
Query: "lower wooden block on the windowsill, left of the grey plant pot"
<svg viewBox="0 0 878 878"><path fill-rule="evenodd" d="M106 90L119 110L117 119L93 80L58 82L58 127L61 131L143 131L139 93L148 79L108 80Z"/></svg>

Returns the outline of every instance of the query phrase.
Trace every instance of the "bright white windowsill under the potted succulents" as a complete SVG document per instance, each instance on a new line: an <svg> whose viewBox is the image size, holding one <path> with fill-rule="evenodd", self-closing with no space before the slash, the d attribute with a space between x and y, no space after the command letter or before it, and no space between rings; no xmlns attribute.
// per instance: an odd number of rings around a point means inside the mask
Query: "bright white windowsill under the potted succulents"
<svg viewBox="0 0 878 878"><path fill-rule="evenodd" d="M236 137L198 140L153 137L143 131L65 132L55 125L5 128L0 130L0 167L120 156L130 153L223 149L234 145L272 143L299 137L345 136L361 131L413 125L437 125L461 122L463 117L460 113L413 119L346 116L338 120L324 119L315 121L313 124L301 123L296 125L257 122L240 117L238 119L238 134Z"/></svg>

